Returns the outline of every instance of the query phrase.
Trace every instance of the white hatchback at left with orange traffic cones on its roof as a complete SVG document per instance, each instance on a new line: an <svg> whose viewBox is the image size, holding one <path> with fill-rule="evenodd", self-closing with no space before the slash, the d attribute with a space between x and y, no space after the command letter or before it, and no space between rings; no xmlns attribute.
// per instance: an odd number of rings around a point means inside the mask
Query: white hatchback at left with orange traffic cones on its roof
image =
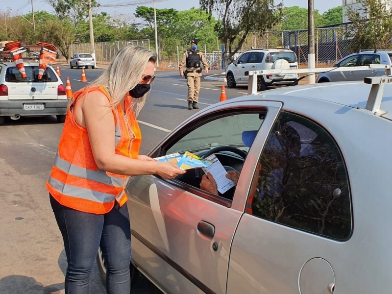
<svg viewBox="0 0 392 294"><path fill-rule="evenodd" d="M19 120L27 116L55 115L64 123L68 99L56 71L48 66L38 79L38 62L25 62L24 79L14 63L0 63L0 124L4 117Z"/></svg>

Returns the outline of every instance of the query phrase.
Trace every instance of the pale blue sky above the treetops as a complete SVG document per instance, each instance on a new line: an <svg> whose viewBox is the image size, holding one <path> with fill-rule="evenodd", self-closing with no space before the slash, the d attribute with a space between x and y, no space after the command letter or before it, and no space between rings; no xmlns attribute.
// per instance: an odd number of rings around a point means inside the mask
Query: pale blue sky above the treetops
<svg viewBox="0 0 392 294"><path fill-rule="evenodd" d="M11 15L16 15L17 13L25 14L31 11L31 3L28 4L31 0L0 0L0 2L7 2L5 5L1 5L1 10L5 12L7 8L10 8ZM87 2L87 0L85 0ZM130 2L129 0L97 0L100 4L118 4L118 3L127 3ZM141 0L143 1L143 0ZM132 0L131 2L136 2ZM307 7L308 0L282 0L285 6L300 6L300 7ZM279 3L279 0L275 0L275 3ZM156 8L174 8L176 10L188 10L192 6L196 6L198 4L197 1L183 1L183 0L165 0L162 2L156 3ZM47 10L52 12L52 8L44 2L44 0L33 0L34 11L38 10ZM149 4L143 4L145 6L152 7L152 2ZM314 1L315 9L319 9L320 13L328 10L329 8L336 7L342 5L342 0L315 0ZM198 5L197 5L198 6ZM4 7L4 8L2 8ZM22 8L22 9L21 9ZM99 11L107 12L109 14L113 12L118 13L128 13L133 14L135 12L136 6L131 7L122 7L122 8L102 8Z"/></svg>

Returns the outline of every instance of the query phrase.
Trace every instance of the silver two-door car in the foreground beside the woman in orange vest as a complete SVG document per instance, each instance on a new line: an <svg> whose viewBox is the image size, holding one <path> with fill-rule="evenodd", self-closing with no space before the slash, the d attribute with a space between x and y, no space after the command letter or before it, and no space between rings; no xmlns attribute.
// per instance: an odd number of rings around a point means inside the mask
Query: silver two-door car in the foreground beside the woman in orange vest
<svg viewBox="0 0 392 294"><path fill-rule="evenodd" d="M127 185L132 272L167 294L390 294L392 85L280 88L216 103L148 155L215 154L236 187L203 172ZM385 113L386 112L386 113ZM98 266L100 263L98 263Z"/></svg>

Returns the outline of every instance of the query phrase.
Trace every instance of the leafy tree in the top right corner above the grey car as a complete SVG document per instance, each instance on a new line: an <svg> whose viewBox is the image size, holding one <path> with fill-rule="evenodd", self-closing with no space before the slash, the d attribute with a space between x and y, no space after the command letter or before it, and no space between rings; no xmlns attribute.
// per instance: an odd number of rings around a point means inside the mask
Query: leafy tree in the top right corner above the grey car
<svg viewBox="0 0 392 294"><path fill-rule="evenodd" d="M351 40L349 49L388 49L392 38L392 7L382 0L359 0L364 7L347 10L352 22L346 33Z"/></svg>

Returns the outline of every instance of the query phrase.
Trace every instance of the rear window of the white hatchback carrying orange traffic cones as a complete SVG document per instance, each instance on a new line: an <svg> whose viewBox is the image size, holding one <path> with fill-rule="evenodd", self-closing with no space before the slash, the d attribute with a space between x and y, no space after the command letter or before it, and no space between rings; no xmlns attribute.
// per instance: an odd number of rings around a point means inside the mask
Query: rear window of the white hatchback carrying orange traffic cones
<svg viewBox="0 0 392 294"><path fill-rule="evenodd" d="M9 83L45 83L57 82L58 78L51 68L47 68L42 79L38 79L39 66L25 66L27 78L24 79L16 66L7 68L5 72L5 81Z"/></svg>

